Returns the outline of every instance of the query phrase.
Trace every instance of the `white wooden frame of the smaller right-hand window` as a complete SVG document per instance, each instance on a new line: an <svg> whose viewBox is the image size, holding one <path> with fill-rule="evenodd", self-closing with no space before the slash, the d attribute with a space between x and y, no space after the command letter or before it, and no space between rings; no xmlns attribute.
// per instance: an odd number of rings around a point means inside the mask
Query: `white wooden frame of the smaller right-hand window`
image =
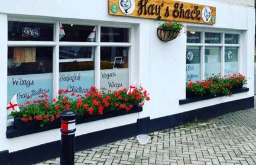
<svg viewBox="0 0 256 165"><path fill-rule="evenodd" d="M222 29L204 29L204 28L187 28L187 31L196 31L201 34L200 43L187 43L187 47L200 47L200 80L205 80L205 47L221 47L221 76L225 75L225 47L237 47L238 48L238 72L242 71L241 66L241 38L242 32L232 31L232 30L222 30ZM205 43L205 33L219 33L221 34L221 43L220 44L208 44ZM237 34L238 35L238 44L225 44L225 34Z"/></svg>

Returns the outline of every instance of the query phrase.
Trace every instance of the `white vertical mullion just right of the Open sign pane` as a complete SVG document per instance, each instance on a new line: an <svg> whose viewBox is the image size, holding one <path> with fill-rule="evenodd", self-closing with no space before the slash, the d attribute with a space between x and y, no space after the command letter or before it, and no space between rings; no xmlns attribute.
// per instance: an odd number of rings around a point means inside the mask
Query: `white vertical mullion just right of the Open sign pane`
<svg viewBox="0 0 256 165"><path fill-rule="evenodd" d="M59 38L60 38L60 22L55 24L54 38L57 45L54 47L53 52L53 98L58 97L59 90Z"/></svg>

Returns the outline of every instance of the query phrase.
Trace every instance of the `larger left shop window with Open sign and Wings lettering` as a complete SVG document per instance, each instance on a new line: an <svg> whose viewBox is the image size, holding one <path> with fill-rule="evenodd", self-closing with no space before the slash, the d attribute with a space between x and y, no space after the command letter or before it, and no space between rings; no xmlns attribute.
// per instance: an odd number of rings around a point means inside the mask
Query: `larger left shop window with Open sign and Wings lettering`
<svg viewBox="0 0 256 165"><path fill-rule="evenodd" d="M101 25L8 21L7 103L15 94L18 104L38 100L44 93L51 101L59 88L81 95L92 86L128 88L129 32Z"/></svg>

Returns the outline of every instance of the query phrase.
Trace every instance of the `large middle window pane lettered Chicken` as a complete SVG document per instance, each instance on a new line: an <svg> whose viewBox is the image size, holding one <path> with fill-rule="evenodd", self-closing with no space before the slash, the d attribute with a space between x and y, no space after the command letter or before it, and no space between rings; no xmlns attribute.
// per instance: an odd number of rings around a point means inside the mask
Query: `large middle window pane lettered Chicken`
<svg viewBox="0 0 256 165"><path fill-rule="evenodd" d="M61 62L60 61L60 77L59 77L59 88L68 89L69 94L72 92L80 94L82 96L88 93L89 88L95 85L95 71L94 71L94 56L95 51L93 47L60 47L60 54L63 53L62 50L78 50L79 57L90 58L90 60L80 62L70 61ZM79 49L81 49L79 51ZM71 52L70 58L74 57L76 53ZM69 58L68 55L64 57ZM61 58L61 57L60 57Z"/></svg>

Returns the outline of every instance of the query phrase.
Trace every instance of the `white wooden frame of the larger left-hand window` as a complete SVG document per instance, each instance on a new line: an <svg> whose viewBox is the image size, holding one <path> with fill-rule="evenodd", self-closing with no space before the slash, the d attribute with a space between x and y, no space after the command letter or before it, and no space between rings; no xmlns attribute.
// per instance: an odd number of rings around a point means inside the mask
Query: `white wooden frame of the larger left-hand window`
<svg viewBox="0 0 256 165"><path fill-rule="evenodd" d="M71 60L60 60L59 59L59 49L60 47L95 47L95 87L101 87L101 47L128 47L128 85L131 85L132 82L132 60L134 59L134 47L132 42L135 41L132 38L132 33L134 32L134 27L130 24L88 24L86 22L77 22L77 21L48 21L47 19L34 19L34 18L8 18L9 21L17 21L17 22L35 22L35 23L47 23L47 24L54 24L54 34L53 40L54 41L7 41L8 47L53 47L53 98L58 97L59 91L59 64L60 62L66 61L92 61L91 58L82 58L82 59L71 59ZM59 41L59 29L61 24L74 24L74 25L88 25L88 26L95 26L96 27L96 34L95 34L95 42L63 42ZM109 28L128 28L129 29L129 41L128 42L101 42L101 27L109 27ZM8 120L8 126L11 126L13 119Z"/></svg>

